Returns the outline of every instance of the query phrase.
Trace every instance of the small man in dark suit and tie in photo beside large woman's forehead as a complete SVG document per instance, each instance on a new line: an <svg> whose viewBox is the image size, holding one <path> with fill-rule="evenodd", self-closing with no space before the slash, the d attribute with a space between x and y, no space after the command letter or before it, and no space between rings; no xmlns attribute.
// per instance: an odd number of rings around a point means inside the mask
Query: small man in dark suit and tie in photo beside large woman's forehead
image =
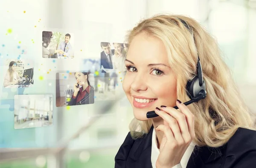
<svg viewBox="0 0 256 168"><path fill-rule="evenodd" d="M114 49L111 49L110 43L108 42L101 42L101 48L103 51L100 54L100 66L104 69L113 69L112 58L114 55ZM105 72L102 70L102 72Z"/></svg>

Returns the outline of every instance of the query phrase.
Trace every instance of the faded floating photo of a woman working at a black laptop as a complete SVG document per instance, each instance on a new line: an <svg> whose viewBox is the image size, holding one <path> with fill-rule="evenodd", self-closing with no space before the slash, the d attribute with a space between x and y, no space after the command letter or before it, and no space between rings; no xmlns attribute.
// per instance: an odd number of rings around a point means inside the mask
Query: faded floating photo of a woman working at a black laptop
<svg viewBox="0 0 256 168"><path fill-rule="evenodd" d="M6 75L3 87L30 87L34 84L34 68L31 62L21 60L6 60Z"/></svg>

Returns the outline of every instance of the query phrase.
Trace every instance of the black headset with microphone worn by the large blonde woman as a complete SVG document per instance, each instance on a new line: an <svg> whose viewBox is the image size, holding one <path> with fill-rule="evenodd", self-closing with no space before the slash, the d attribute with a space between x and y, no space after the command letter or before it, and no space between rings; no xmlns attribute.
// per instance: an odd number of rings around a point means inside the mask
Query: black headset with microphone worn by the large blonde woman
<svg viewBox="0 0 256 168"><path fill-rule="evenodd" d="M183 25L189 30L189 32L192 33L189 25L182 19L179 18L179 20L183 23ZM193 36L194 37L194 36ZM195 37L194 37L195 41ZM197 72L196 76L189 80L186 84L186 93L189 96L191 100L185 102L184 104L187 106L189 104L198 102L201 99L206 98L207 92L206 92L206 85L203 79L203 72L202 72L202 67L198 55L198 63L197 63ZM178 109L177 106L173 107L175 109ZM147 113L147 118L153 118L157 117L158 115L155 113L155 111L148 111Z"/></svg>

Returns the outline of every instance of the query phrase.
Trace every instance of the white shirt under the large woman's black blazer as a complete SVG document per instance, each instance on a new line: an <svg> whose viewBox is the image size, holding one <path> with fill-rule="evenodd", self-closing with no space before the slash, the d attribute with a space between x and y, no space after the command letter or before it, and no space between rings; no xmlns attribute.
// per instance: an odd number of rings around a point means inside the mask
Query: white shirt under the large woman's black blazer
<svg viewBox="0 0 256 168"><path fill-rule="evenodd" d="M192 154L192 152L194 151L195 148L195 144L193 142L190 143L189 147L187 148L185 154L183 155L183 157L181 158L181 161L179 164L175 165L172 168L186 168L186 165L189 161L189 158ZM151 163L152 163L152 167L156 168L156 162L157 162L157 158L158 155L160 154L159 149L157 148L157 139L156 139L156 132L153 129L153 134L152 134L152 147L151 147Z"/></svg>

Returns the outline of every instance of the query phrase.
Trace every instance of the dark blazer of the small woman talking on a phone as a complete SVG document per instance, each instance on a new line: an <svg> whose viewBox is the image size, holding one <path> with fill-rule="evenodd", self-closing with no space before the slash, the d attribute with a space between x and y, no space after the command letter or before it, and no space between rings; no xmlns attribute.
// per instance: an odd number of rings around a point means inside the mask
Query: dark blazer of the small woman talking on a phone
<svg viewBox="0 0 256 168"><path fill-rule="evenodd" d="M73 93L74 94L74 93ZM76 103L76 99L78 98L79 94L81 94L80 90L76 95L76 98L71 97L70 101L68 102L68 106L73 106L73 105L79 105L79 104L93 104L94 103L94 89L93 87L90 87L90 93L86 93L85 96Z"/></svg>

